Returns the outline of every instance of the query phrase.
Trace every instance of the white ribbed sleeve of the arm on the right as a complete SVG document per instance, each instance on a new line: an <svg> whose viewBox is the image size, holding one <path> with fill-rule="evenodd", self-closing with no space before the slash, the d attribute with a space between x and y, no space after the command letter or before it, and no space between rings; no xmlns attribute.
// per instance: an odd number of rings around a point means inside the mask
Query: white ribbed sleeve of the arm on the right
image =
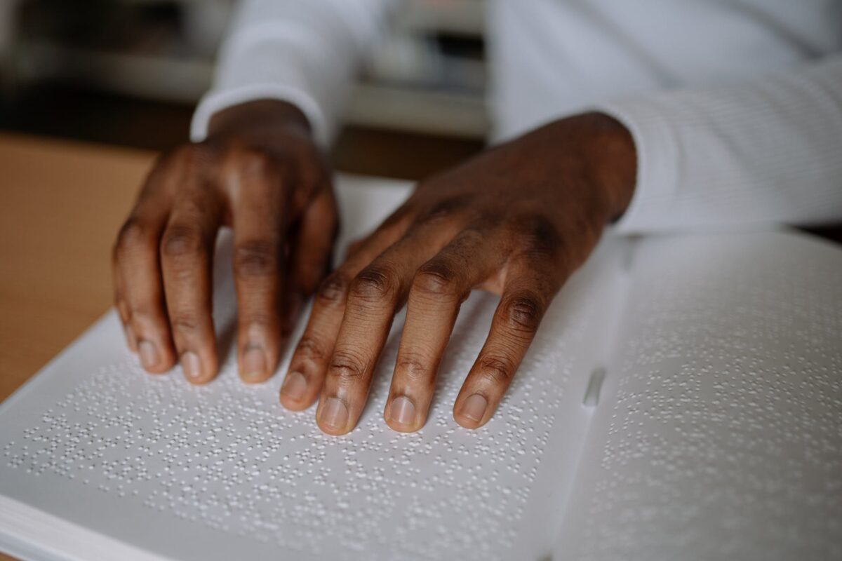
<svg viewBox="0 0 842 561"><path fill-rule="evenodd" d="M842 56L596 110L625 124L637 147L621 232L842 219Z"/></svg>

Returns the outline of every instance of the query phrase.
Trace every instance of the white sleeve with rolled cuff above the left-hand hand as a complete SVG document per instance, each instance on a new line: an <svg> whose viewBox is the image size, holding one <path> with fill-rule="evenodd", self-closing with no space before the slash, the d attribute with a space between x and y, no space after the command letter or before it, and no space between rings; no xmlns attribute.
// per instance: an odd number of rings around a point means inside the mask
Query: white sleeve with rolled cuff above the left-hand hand
<svg viewBox="0 0 842 561"><path fill-rule="evenodd" d="M261 98L295 104L327 145L356 66L397 0L242 0L221 45L213 87L193 115L190 138L210 118Z"/></svg>

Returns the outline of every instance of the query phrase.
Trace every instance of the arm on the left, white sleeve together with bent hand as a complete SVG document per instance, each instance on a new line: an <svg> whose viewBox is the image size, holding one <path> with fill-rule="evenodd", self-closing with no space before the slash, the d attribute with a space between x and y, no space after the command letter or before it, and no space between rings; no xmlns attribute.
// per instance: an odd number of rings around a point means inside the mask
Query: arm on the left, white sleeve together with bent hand
<svg viewBox="0 0 842 561"><path fill-rule="evenodd" d="M115 244L115 304L149 372L218 370L210 262L234 230L237 362L274 372L280 341L328 266L336 230L330 140L353 66L391 0L247 0L200 103L194 142L163 155Z"/></svg>

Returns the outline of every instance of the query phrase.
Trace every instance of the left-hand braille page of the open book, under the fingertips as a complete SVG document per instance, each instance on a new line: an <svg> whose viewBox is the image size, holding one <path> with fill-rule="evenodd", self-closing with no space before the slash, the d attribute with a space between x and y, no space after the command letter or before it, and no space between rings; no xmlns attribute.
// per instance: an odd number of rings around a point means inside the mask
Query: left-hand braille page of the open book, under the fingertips
<svg viewBox="0 0 842 561"><path fill-rule="evenodd" d="M345 241L408 194L343 183ZM578 404L619 307L621 246L606 240L574 275L498 414L478 431L456 425L451 408L488 332L498 302L489 294L463 305L429 421L415 434L382 420L401 316L359 426L329 437L314 408L280 406L285 364L259 385L242 384L232 352L202 387L179 368L149 375L109 314L0 409L0 545L31 558L548 553L589 420ZM215 318L228 349L235 309L221 251Z"/></svg>

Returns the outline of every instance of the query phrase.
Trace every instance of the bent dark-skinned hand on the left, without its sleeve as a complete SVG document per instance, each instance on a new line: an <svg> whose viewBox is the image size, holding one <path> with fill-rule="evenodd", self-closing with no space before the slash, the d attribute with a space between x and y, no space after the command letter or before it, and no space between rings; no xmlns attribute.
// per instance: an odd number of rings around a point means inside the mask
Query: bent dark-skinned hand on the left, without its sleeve
<svg viewBox="0 0 842 561"><path fill-rule="evenodd" d="M262 382L325 273L337 229L331 174L295 107L271 100L216 114L210 135L162 156L117 237L115 304L148 372L178 360L190 382L216 376L211 261L234 230L237 362Z"/></svg>

